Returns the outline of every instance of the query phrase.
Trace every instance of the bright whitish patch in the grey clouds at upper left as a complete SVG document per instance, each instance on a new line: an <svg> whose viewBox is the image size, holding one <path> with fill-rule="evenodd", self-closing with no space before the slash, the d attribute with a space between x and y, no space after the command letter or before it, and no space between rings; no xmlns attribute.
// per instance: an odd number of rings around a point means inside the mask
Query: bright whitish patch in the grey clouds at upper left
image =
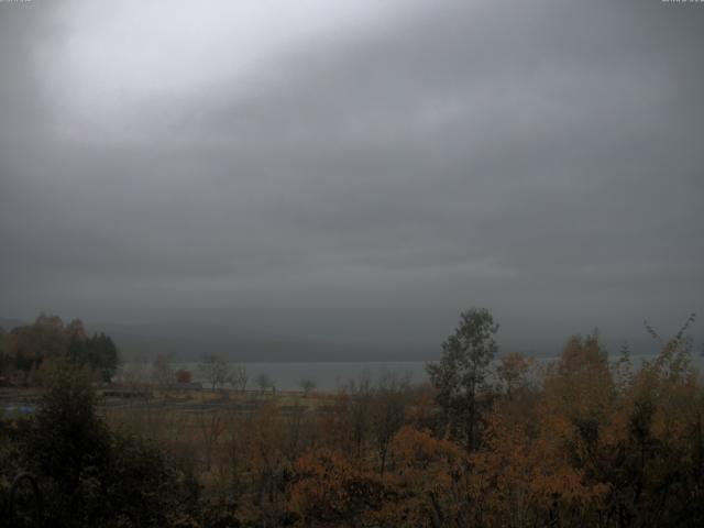
<svg viewBox="0 0 704 528"><path fill-rule="evenodd" d="M38 54L37 69L50 76L59 128L116 131L155 112L163 121L160 106L195 92L226 85L235 98L256 89L285 66L280 57L369 31L399 3L75 2L62 12L62 31Z"/></svg>

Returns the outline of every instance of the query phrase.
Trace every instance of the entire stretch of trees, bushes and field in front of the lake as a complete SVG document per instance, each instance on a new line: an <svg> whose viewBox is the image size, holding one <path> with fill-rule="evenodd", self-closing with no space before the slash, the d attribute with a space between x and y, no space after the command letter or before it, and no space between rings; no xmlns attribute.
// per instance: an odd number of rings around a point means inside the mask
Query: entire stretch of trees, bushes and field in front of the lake
<svg viewBox="0 0 704 528"><path fill-rule="evenodd" d="M693 322L646 326L661 351L638 369L596 333L536 364L470 309L426 384L275 393L217 356L204 391L168 362L117 386L109 337L42 315L0 334L2 396L31 400L0 420L0 526L702 526Z"/></svg>

